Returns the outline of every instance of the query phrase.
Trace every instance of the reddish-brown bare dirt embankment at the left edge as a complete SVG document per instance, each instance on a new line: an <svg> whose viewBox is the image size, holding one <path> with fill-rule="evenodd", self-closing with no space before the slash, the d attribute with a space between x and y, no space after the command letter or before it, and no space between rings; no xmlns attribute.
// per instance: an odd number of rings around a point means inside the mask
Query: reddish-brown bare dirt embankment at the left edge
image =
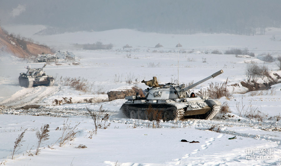
<svg viewBox="0 0 281 166"><path fill-rule="evenodd" d="M53 54L49 47L14 38L3 32L0 27L0 53L1 52L9 52L19 58L37 56L38 54L42 54L42 52Z"/></svg>

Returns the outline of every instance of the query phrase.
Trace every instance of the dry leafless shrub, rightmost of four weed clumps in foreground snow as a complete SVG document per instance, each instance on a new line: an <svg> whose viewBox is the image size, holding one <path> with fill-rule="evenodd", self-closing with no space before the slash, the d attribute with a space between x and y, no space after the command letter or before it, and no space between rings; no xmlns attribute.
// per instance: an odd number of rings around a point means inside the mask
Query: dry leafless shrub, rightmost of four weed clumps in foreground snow
<svg viewBox="0 0 281 166"><path fill-rule="evenodd" d="M95 129L92 129L92 131L89 134L90 139L92 139L93 134L97 133L97 129L107 129L110 126L110 123L106 124L106 122L109 119L109 114L103 114L105 110L102 109L102 105L98 112L92 112L86 107L88 114L91 116L92 120L94 121Z"/></svg>

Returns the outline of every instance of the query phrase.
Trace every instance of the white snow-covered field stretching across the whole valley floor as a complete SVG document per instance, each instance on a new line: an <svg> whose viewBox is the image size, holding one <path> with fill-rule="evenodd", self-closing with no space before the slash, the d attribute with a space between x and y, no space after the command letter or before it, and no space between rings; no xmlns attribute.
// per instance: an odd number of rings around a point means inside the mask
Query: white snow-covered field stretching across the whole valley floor
<svg viewBox="0 0 281 166"><path fill-rule="evenodd" d="M271 89L242 93L243 88L233 88L231 98L222 97L232 113L219 114L213 120L185 120L161 122L160 128L152 128L153 122L125 119L119 114L125 99L106 101L106 93L137 85L147 86L142 80L156 76L160 84L179 82L188 84L210 76L216 71L224 73L195 87L206 88L211 82L228 85L246 81L245 67L252 61L269 67L278 73L275 62L264 62L262 56L270 53L274 58L281 55L281 29L268 28L265 35L241 36L230 34L173 35L144 33L128 29L105 32L76 32L50 36L34 33L44 26L7 26L15 34L32 37L40 43L61 51L71 51L75 62L59 59L45 67L47 75L55 77L52 87L22 88L18 76L26 72L24 66L40 68L44 63L32 63L10 55L0 57L0 165L281 165L281 84ZM273 36L275 40L273 40ZM112 50L74 50L72 44L103 42L112 43ZM175 46L180 41L180 50ZM155 48L160 43L164 47ZM126 44L132 48L122 47ZM231 48L254 52L255 57L212 54ZM81 92L63 86L60 78L86 79L88 90ZM132 81L129 85L127 82ZM262 80L259 80L262 82ZM73 104L55 105L55 100L68 98ZM85 103L93 99L95 103ZM99 102L97 102L99 101ZM42 105L39 109L24 110L25 105ZM98 111L100 107L110 115L107 129L95 128L87 109ZM249 107L248 107L249 106ZM263 120L245 117L247 111L259 111ZM36 115L36 116L35 116ZM239 116L241 115L241 116ZM67 120L68 119L68 120ZM79 131L73 141L59 147L64 122ZM42 125L50 125L49 138L42 144L39 155L36 131ZM58 130L57 127L59 128ZM11 151L19 134L25 131L22 146L11 159ZM236 136L236 139L229 139ZM199 143L181 142L199 141ZM87 148L77 148L80 144ZM51 147L51 148L50 148ZM31 150L30 150L31 149Z"/></svg>

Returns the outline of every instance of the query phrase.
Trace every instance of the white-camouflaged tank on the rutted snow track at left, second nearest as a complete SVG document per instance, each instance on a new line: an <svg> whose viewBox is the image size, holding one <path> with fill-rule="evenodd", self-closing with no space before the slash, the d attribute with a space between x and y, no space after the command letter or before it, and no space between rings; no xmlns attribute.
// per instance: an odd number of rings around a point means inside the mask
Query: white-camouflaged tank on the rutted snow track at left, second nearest
<svg viewBox="0 0 281 166"><path fill-rule="evenodd" d="M27 72L20 73L18 77L19 84L26 88L31 88L33 85L53 86L55 81L53 76L48 76L46 72L43 71L46 65L47 64L37 69L31 69L30 66L27 66Z"/></svg>

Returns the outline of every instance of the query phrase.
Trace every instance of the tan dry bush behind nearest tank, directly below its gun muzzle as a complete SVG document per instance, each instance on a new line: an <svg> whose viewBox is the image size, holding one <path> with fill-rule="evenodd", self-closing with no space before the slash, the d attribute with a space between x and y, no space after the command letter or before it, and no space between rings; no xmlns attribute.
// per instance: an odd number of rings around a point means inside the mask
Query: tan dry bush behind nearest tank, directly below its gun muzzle
<svg viewBox="0 0 281 166"><path fill-rule="evenodd" d="M207 95L209 97L211 97L212 99L219 99L223 96L225 97L229 97L231 96L229 90L227 89L227 82L228 79L226 79L226 81L224 81L224 83L210 83L209 87L206 89L207 91Z"/></svg>

